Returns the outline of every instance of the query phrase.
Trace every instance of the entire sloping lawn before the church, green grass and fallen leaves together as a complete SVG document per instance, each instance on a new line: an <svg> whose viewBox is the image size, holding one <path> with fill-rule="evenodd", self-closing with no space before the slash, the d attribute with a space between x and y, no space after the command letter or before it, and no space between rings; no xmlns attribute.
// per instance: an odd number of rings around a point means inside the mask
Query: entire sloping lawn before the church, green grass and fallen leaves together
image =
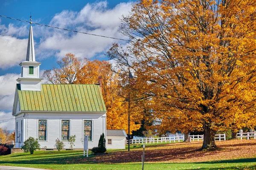
<svg viewBox="0 0 256 170"><path fill-rule="evenodd" d="M146 144L145 170L254 170L256 140L216 142L215 151L199 151L201 142ZM83 157L83 151L35 151L0 156L0 165L58 170L140 170L142 145L131 151L108 150L108 154Z"/></svg>

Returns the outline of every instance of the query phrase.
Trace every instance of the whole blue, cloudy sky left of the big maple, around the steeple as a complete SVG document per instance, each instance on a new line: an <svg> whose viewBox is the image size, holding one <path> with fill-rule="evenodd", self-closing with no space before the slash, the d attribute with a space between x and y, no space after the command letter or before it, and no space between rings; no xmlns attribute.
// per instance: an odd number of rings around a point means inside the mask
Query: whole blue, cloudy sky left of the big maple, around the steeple
<svg viewBox="0 0 256 170"><path fill-rule="evenodd" d="M0 0L0 15L91 34L122 38L120 18L131 10L131 0ZM26 59L29 23L0 17L0 120L11 119L19 63ZM107 60L105 52L113 39L76 34L33 25L36 60L41 74L71 52L77 57ZM14 119L0 121L0 127L14 129Z"/></svg>

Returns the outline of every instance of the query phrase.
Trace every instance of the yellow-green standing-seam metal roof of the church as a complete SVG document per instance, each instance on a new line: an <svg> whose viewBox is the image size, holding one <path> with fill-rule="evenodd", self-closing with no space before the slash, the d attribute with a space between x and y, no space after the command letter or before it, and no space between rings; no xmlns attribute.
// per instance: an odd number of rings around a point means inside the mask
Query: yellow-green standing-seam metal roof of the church
<svg viewBox="0 0 256 170"><path fill-rule="evenodd" d="M41 91L21 91L21 111L106 112L99 85L42 84Z"/></svg>

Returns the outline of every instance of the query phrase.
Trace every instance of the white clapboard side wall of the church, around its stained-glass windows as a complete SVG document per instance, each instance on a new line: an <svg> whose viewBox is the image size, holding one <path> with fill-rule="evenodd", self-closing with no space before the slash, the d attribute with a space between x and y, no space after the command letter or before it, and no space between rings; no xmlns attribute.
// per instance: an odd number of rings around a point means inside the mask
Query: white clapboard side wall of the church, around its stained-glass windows
<svg viewBox="0 0 256 170"><path fill-rule="evenodd" d="M38 120L47 120L47 141L39 141L41 148L53 149L55 140L61 139L61 119L70 120L70 135L76 135L74 149L83 149L83 120L92 120L93 122L93 141L89 141L89 149L98 146L99 137L106 131L105 114L103 113L26 113L22 118L16 118L18 121L18 130L20 119L26 122L26 139L28 137L38 138ZM16 141L17 142L17 141ZM63 141L64 149L69 149L70 144ZM17 146L16 146L17 147Z"/></svg>

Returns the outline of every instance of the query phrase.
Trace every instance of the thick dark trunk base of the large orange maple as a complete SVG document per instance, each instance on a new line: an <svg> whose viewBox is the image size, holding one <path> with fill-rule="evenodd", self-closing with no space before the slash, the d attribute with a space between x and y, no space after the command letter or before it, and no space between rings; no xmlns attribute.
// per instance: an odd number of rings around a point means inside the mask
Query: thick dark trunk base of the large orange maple
<svg viewBox="0 0 256 170"><path fill-rule="evenodd" d="M215 144L215 130L209 127L209 124L204 125L204 142L201 150L203 149L215 149L217 148Z"/></svg>

